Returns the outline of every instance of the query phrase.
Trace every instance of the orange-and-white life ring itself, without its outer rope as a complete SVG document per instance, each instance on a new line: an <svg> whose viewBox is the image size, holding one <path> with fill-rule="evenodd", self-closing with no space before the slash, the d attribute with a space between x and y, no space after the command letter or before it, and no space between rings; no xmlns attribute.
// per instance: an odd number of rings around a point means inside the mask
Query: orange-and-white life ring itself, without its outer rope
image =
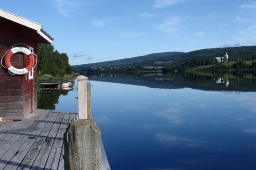
<svg viewBox="0 0 256 170"><path fill-rule="evenodd" d="M17 69L12 66L11 58L12 58L12 55L14 55L15 53L24 53L25 55L27 55L29 59L29 63L25 68ZM13 74L18 74L18 75L26 74L32 70L34 64L35 64L35 61L34 61L33 54L29 49L26 49L25 47L14 47L10 49L5 55L6 68L9 70L9 72Z"/></svg>

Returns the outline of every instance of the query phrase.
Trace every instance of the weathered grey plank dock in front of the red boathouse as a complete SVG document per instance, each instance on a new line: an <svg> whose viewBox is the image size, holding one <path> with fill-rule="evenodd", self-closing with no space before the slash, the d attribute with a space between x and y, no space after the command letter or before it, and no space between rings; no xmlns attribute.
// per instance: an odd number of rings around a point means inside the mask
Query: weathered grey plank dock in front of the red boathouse
<svg viewBox="0 0 256 170"><path fill-rule="evenodd" d="M76 113L36 111L0 123L0 170L63 170L63 134ZM110 170L101 145L101 170Z"/></svg>

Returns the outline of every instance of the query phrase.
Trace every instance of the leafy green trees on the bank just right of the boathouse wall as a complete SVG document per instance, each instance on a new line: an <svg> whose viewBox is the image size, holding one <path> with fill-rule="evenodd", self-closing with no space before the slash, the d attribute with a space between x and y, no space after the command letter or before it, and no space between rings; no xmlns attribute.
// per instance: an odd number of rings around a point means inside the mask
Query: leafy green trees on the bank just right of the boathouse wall
<svg viewBox="0 0 256 170"><path fill-rule="evenodd" d="M64 76L74 73L69 65L69 57L66 53L54 50L51 44L38 44L38 73L53 76Z"/></svg>

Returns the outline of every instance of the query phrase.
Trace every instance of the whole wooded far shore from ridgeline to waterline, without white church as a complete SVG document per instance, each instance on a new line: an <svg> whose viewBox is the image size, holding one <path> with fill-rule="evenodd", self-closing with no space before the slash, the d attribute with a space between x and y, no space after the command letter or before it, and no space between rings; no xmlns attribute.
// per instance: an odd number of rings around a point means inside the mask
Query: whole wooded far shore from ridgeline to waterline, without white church
<svg viewBox="0 0 256 170"><path fill-rule="evenodd" d="M229 55L228 60L232 62L218 63L216 57L224 58L225 53ZM164 52L121 59L116 61L105 61L73 66L75 72L100 73L100 72L140 72L161 70L163 73L184 71L191 68L211 66L204 69L254 69L256 60L256 46L241 46L227 48L200 49L187 53ZM234 62L237 62L234 64ZM250 62L247 62L250 61ZM149 68L153 68L149 70Z"/></svg>

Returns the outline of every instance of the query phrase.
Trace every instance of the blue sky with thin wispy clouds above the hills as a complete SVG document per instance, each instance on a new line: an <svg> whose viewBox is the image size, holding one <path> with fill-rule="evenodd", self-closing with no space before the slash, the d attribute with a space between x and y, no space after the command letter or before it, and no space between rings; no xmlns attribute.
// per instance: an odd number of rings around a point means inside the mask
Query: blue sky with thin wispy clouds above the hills
<svg viewBox="0 0 256 170"><path fill-rule="evenodd" d="M4 0L43 25L71 65L256 45L256 0Z"/></svg>

